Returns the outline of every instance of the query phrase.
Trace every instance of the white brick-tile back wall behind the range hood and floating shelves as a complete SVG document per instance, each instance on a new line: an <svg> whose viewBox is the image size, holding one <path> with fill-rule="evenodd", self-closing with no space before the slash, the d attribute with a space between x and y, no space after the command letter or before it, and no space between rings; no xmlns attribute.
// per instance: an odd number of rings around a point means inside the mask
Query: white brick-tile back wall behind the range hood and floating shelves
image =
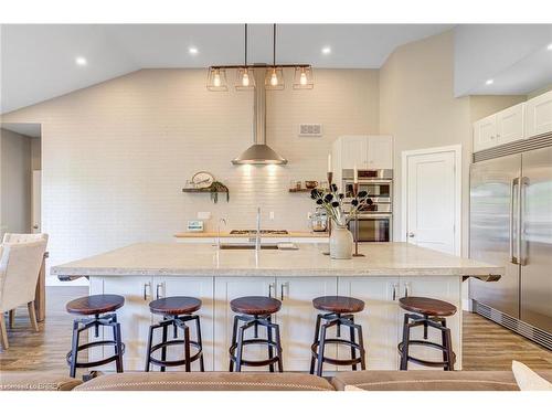
<svg viewBox="0 0 552 414"><path fill-rule="evenodd" d="M321 180L333 139L379 132L378 71L320 70L312 91L267 93L268 144L285 167L231 164L252 144L251 93L213 93L203 70L145 70L2 117L42 123L43 230L50 265L129 243L171 241L198 211L229 227L307 230L307 194L289 194L291 179ZM229 74L229 81L233 79ZM300 123L320 123L323 137L299 138ZM184 194L187 179L212 172L230 188L230 203ZM268 220L268 212L275 220ZM51 280L53 282L53 280Z"/></svg>

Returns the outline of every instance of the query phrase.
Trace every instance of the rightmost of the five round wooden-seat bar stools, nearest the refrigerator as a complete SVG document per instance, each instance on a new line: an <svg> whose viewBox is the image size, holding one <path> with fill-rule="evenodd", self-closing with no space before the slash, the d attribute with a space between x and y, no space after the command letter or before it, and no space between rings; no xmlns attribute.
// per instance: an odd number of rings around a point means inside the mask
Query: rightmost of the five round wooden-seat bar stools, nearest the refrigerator
<svg viewBox="0 0 552 414"><path fill-rule="evenodd" d="M408 361L425 367L443 367L445 371L454 371L456 354L453 352L450 329L447 328L446 317L456 314L456 306L437 299L424 297L404 297L399 299L399 306L413 314L404 315L403 341L399 343L401 354L401 370L408 369ZM412 321L411 321L412 320ZM411 329L424 327L424 340L410 339ZM442 332L442 342L427 341L427 328L438 329ZM426 361L408 354L411 346L436 348L443 351L443 361Z"/></svg>

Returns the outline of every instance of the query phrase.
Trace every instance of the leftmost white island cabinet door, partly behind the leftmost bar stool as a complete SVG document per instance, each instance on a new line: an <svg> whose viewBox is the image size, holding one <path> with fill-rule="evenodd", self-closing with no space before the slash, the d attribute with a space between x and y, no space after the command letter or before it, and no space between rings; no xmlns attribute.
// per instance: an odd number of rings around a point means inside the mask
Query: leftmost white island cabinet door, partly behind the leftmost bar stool
<svg viewBox="0 0 552 414"><path fill-rule="evenodd" d="M125 371L142 371L146 363L146 346L151 323L148 304L151 301L151 278L147 276L104 277L104 293L125 297L125 305L117 309L117 320L125 342L123 363ZM105 329L106 339L112 339L110 329ZM104 347L104 357L113 354L113 347ZM115 362L106 365L115 370ZM104 368L103 368L104 369Z"/></svg>

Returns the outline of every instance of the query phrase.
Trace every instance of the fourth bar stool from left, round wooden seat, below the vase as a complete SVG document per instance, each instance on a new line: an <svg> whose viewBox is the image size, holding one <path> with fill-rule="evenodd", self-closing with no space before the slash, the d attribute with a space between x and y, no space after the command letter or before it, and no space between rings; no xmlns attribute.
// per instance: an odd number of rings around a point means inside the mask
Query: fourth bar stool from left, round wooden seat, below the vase
<svg viewBox="0 0 552 414"><path fill-rule="evenodd" d="M357 371L357 365L360 363L361 370L367 369L364 341L362 337L362 327L354 323L352 314L360 312L364 309L364 302L360 299L347 296L322 296L312 300L315 309L327 314L318 314L316 318L315 341L310 347L312 357L310 359L310 373L322 376L322 365L325 362L333 365L351 365L353 371ZM344 315L343 315L344 314ZM321 325L325 320L323 325ZM326 338L328 328L337 327L338 338ZM340 338L341 326L349 328L350 340ZM358 342L355 341L358 335ZM326 344L338 343L351 348L351 359L339 360L325 357ZM357 350L360 357L357 357Z"/></svg>

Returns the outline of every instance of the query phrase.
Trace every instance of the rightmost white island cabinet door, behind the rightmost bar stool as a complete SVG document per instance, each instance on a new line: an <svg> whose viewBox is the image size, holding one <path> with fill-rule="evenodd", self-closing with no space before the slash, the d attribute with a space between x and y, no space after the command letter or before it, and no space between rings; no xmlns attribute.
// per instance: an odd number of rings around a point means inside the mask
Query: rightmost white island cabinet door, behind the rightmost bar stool
<svg viewBox="0 0 552 414"><path fill-rule="evenodd" d="M461 278L458 276L413 276L401 277L402 296L423 296L440 299L453 304L458 309L455 315L447 317L447 327L453 337L453 351L456 353L455 370L461 370ZM402 326L405 311L400 309L399 337L402 340ZM424 339L424 328L411 329L411 339ZM442 343L440 331L428 329L427 340ZM442 361L443 352L428 347L412 347L410 354L428 361ZM408 363L408 370L432 369L415 363Z"/></svg>

